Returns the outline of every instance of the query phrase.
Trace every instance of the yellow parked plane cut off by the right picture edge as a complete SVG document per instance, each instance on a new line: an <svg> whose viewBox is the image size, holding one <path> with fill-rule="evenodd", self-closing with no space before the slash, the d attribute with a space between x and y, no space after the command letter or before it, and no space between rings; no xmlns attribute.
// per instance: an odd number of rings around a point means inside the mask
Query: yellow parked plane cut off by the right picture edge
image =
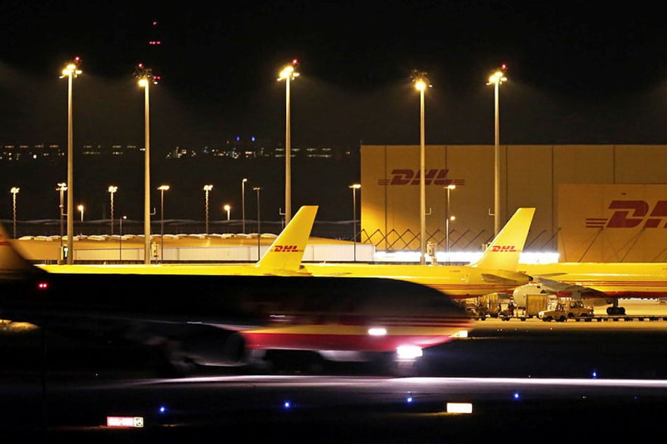
<svg viewBox="0 0 667 444"><path fill-rule="evenodd" d="M625 314L621 298L667 298L667 263L519 264L533 282L520 286L514 297L551 294L607 307L607 314Z"/></svg>

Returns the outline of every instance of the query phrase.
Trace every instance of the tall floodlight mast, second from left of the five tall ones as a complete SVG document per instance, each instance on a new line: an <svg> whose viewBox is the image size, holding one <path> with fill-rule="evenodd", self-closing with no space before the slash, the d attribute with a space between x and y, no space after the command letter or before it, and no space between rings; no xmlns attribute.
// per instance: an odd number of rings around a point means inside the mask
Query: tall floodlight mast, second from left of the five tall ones
<svg viewBox="0 0 667 444"><path fill-rule="evenodd" d="M149 112L149 85L157 85L159 77L152 69L137 64L135 76L139 86L144 88L144 263L151 263L151 120Z"/></svg>

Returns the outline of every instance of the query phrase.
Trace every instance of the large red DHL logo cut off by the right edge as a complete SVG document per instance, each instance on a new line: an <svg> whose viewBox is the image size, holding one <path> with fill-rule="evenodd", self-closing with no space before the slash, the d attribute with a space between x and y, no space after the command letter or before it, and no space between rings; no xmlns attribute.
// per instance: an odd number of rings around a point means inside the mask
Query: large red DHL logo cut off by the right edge
<svg viewBox="0 0 667 444"><path fill-rule="evenodd" d="M645 200L612 200L609 209L615 209L609 218L586 218L586 228L667 228L667 200L659 200L654 207Z"/></svg>

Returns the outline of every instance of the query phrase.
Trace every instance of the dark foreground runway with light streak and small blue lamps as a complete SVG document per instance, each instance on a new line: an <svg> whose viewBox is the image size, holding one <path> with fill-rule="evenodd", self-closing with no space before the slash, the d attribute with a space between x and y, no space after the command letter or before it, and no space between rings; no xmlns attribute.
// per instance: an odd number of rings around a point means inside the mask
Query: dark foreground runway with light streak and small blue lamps
<svg viewBox="0 0 667 444"><path fill-rule="evenodd" d="M667 321L478 321L469 338L427 349L417 377L284 359L267 375L163 379L145 349L39 330L0 343L1 431L37 442L637 440L661 433L667 407ZM142 426L109 427L109 416Z"/></svg>

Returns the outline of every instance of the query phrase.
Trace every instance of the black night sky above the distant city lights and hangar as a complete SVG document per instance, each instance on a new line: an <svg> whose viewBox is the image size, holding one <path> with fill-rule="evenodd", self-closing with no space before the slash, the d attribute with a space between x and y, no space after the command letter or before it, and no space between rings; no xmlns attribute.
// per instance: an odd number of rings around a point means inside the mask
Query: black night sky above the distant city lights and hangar
<svg viewBox="0 0 667 444"><path fill-rule="evenodd" d="M501 144L667 144L659 4L6 0L0 25L0 144L66 146L58 76L75 56L75 146L143 144L139 62L161 76L151 87L151 154L235 136L282 143L277 76L292 59L301 74L290 95L295 148L419 144L413 69L433 86L426 144L493 144L486 82L502 63Z"/></svg>

